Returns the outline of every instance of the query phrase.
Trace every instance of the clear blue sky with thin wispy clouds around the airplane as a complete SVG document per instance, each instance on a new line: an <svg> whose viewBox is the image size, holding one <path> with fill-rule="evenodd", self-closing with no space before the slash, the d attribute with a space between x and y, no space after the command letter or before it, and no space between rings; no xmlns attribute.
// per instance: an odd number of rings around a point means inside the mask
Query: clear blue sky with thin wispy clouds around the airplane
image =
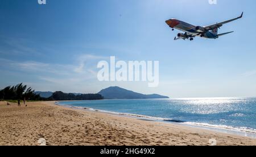
<svg viewBox="0 0 256 157"><path fill-rule="evenodd" d="M0 88L23 82L37 91L97 93L109 86L177 97L256 96L256 1L0 1ZM207 26L236 18L219 39L174 41L165 21ZM100 82L97 63L159 61L159 85Z"/></svg>

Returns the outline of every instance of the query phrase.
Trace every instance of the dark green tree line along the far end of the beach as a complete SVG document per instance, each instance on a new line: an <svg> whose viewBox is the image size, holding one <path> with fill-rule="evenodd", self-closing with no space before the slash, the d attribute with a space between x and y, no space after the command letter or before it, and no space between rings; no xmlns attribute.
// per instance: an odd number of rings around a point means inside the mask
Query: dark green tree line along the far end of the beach
<svg viewBox="0 0 256 157"><path fill-rule="evenodd" d="M27 85L7 86L0 90L0 100L31 100L31 101L67 101L67 100L103 100L101 94L79 94L54 92L49 98L35 94L35 90Z"/></svg>

